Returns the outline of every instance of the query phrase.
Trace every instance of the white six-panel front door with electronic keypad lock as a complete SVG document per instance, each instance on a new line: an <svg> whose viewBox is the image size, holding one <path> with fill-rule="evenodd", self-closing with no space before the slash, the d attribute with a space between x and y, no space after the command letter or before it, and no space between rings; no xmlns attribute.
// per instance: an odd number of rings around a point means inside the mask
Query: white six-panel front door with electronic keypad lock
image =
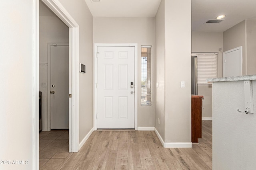
<svg viewBox="0 0 256 170"><path fill-rule="evenodd" d="M97 48L98 129L134 129L134 59L135 47Z"/></svg>

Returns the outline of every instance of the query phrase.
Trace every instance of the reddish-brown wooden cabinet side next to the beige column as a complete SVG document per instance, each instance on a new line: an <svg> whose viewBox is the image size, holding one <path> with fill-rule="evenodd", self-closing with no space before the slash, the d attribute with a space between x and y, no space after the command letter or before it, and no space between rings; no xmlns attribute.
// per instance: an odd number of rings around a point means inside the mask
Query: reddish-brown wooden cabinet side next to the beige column
<svg viewBox="0 0 256 170"><path fill-rule="evenodd" d="M202 138L202 98L204 96L191 96L191 141L198 143Z"/></svg>

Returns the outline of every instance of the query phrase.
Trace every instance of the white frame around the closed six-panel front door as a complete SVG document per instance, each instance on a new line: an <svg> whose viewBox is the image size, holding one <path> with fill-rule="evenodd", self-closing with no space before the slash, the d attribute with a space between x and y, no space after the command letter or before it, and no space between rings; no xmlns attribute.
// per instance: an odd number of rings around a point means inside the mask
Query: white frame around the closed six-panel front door
<svg viewBox="0 0 256 170"><path fill-rule="evenodd" d="M97 130L97 48L98 47L135 47L134 51L134 68L135 68L135 83L134 83L134 94L135 94L135 104L134 104L134 127L135 130L138 129L138 44L137 43L95 43L94 44L94 131Z"/></svg>

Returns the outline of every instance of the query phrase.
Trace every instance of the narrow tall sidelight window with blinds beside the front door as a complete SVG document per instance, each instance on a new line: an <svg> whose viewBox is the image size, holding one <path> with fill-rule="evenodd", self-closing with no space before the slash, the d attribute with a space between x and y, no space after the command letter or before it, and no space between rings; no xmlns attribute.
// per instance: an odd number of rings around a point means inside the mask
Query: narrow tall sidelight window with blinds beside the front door
<svg viewBox="0 0 256 170"><path fill-rule="evenodd" d="M151 106L151 46L141 46L141 106Z"/></svg>

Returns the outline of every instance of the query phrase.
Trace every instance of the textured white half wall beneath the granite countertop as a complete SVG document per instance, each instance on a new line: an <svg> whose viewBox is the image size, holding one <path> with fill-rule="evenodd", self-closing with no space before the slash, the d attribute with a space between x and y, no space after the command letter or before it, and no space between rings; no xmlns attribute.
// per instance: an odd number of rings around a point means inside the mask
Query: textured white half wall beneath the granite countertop
<svg viewBox="0 0 256 170"><path fill-rule="evenodd" d="M253 170L256 167L256 94L254 114L245 111L244 81L213 82L212 169ZM256 92L256 80L252 80ZM247 97L247 98L248 98Z"/></svg>

